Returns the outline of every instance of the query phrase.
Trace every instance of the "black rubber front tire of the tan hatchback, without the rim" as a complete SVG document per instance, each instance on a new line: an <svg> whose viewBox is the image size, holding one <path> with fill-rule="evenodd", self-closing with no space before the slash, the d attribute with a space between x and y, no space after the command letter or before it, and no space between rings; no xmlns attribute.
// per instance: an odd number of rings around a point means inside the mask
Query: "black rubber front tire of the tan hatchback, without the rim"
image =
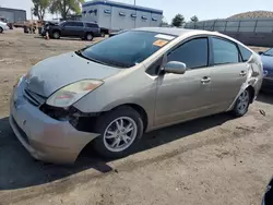
<svg viewBox="0 0 273 205"><path fill-rule="evenodd" d="M115 152L109 150L105 146L104 133L105 133L105 130L107 129L107 126L109 125L109 123L111 123L115 119L120 118L120 117L131 118L136 123L138 133L136 133L136 136L135 136L133 143L127 149L119 152L119 153L115 153ZM106 158L121 158L121 157L128 156L134 150L139 141L141 140L141 137L143 135L143 129L144 129L143 121L142 121L142 118L138 111L135 111L134 109L132 109L130 107L117 108L117 109L115 109L110 112L107 112L106 114L104 114L97 119L96 132L99 133L100 135L97 136L93 142L94 149L99 155L102 155L103 157L106 157Z"/></svg>

